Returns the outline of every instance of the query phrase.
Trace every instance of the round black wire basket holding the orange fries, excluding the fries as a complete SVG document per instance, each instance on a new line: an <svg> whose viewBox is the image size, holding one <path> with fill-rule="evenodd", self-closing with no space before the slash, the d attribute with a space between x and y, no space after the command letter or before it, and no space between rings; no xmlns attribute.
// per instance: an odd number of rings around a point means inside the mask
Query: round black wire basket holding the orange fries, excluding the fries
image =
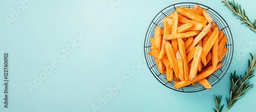
<svg viewBox="0 0 256 112"><path fill-rule="evenodd" d="M152 72L152 74L155 76L155 78L159 82L161 82L163 85L165 85L166 87L171 88L178 92L186 92L186 93L199 92L199 91L203 91L206 88L198 82L196 83L197 86L188 85L188 86L185 86L185 87L182 87L179 89L174 88L174 81L168 82L166 79L166 75L161 74L159 72L156 62L155 62L155 59L152 56L147 54L147 52L152 51L150 37L154 37L154 35L155 35L154 31L155 31L156 26L163 27L162 19L166 16L169 16L170 13L172 13L173 11L176 11L176 7L193 8L196 4L199 5L201 8L207 10L207 12L211 16L211 18L218 25L219 29L223 30L224 34L228 37L228 40L225 45L225 47L228 49L228 52L226 53L225 57L221 61L223 66L218 71L216 71L214 74L212 74L210 76L210 78L208 79L208 82L212 86L215 85L217 82L219 82L221 80L221 78L226 74L226 72L229 68L229 65L231 63L232 57L233 57L232 34L231 34L230 28L228 27L226 21L223 19L223 17L219 13L217 13L216 11L214 11L213 9L211 9L205 5L198 4L198 3L178 3L178 4L174 4L174 5L170 5L170 6L166 7L165 9L160 11L155 16L155 18L151 21L150 26L148 27L146 37L145 37L145 42L144 42L144 54L145 54L147 66L150 69L150 71Z"/></svg>

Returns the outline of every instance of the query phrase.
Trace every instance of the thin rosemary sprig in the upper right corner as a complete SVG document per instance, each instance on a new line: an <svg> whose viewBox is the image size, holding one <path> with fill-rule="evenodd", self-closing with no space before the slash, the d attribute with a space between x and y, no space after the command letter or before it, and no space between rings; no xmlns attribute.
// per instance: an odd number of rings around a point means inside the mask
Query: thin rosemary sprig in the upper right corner
<svg viewBox="0 0 256 112"><path fill-rule="evenodd" d="M244 23L242 24L247 24L246 26L248 26L252 31L256 32L256 19L254 19L254 22L251 23L250 20L248 19L248 17L245 14L245 10L241 9L241 5L238 5L236 3L233 2L229 2L226 0L222 0L223 3L225 3L225 6L227 6L230 10L233 11L233 15L238 15L241 21L244 21Z"/></svg>

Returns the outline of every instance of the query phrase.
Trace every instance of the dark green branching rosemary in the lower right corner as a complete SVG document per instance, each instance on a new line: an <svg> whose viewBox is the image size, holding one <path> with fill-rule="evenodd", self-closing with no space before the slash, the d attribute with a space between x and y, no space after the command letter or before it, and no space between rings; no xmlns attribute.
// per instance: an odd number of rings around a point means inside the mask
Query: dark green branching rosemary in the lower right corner
<svg viewBox="0 0 256 112"><path fill-rule="evenodd" d="M231 73L230 76L230 90L229 90L229 98L226 98L227 107L224 111L230 109L239 98L245 95L245 91L253 86L249 82L246 82L249 78L253 77L254 68L256 66L256 54L254 57L251 55L252 60L248 60L248 69L245 72L245 75L242 77L241 75L236 75L236 71ZM214 95L216 109L214 108L215 112L221 112L223 109L224 104L220 107L221 96ZM224 112L223 111L223 112Z"/></svg>

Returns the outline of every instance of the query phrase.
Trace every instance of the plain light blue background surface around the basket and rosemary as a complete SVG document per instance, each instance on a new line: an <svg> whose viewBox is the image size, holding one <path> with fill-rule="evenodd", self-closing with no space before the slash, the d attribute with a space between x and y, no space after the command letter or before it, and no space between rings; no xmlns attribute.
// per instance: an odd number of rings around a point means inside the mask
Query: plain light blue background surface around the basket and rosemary
<svg viewBox="0 0 256 112"><path fill-rule="evenodd" d="M237 70L238 74L244 74L249 52L256 53L256 33L240 25L241 21L221 1L113 1L118 4L114 9L110 1L36 0L9 27L4 18L11 17L12 9L22 5L19 1L2 1L0 65L4 62L4 52L8 52L10 97L6 109L2 103L2 67L0 111L93 111L92 105L99 105L100 97L109 95L108 88L117 83L122 88L98 111L213 111L213 94L223 95L224 102L230 73ZM210 90L173 91L158 82L144 65L144 58L141 59L151 20L165 7L180 2L196 2L216 10L231 29L233 62L223 79ZM236 2L251 20L256 18L253 0ZM72 46L75 34L86 39L63 59L58 53ZM248 41L252 41L251 46ZM30 93L27 83L33 83L34 75L39 76L44 72L42 68L54 60L59 66ZM134 77L125 74L139 63L142 65ZM256 77L250 82L255 84ZM229 111L256 111L255 92L256 87L250 88Z"/></svg>

